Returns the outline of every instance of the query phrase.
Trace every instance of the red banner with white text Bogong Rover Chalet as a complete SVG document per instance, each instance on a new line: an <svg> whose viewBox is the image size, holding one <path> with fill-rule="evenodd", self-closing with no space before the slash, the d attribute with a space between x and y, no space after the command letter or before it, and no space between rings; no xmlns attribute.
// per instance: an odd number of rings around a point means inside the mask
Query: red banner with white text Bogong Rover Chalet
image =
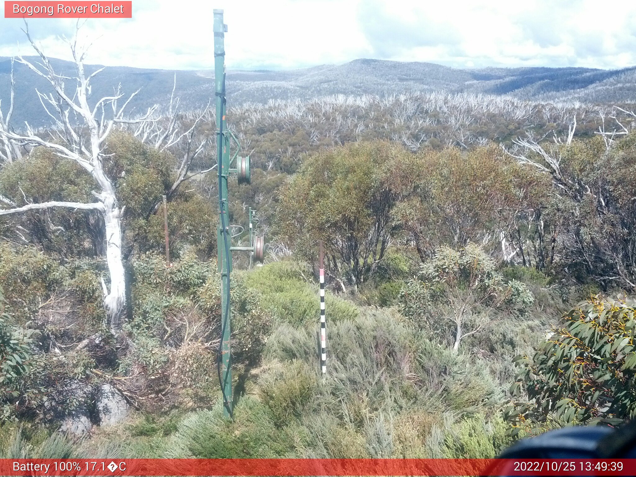
<svg viewBox="0 0 636 477"><path fill-rule="evenodd" d="M132 1L5 1L4 18L132 18Z"/></svg>

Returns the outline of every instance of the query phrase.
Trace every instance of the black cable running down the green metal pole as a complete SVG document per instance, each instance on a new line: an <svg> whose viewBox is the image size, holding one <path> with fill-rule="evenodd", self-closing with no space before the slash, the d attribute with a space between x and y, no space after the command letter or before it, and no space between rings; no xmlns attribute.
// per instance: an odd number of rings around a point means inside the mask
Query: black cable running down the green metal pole
<svg viewBox="0 0 636 477"><path fill-rule="evenodd" d="M228 369L225 370L225 376L221 379L221 360L223 359L223 336L225 335L225 324L230 313L230 245L228 244L228 231L225 226L225 213L223 211L223 196L221 195L221 177L223 174L223 109L225 108L225 71L223 71L223 90L221 94L221 122L219 123L219 144L218 144L218 173L219 173L219 211L221 212L221 233L223 233L223 242L225 248L226 273L228 277L228 286L225 287L225 310L221 310L221 340L219 342L219 352L216 359L216 372L219 377L219 385L221 386L221 394L223 394L223 406L226 406L230 418L233 418L232 405L228 402L228 396L225 394L225 386L223 383L228 378L230 372L230 359L228 357ZM221 275L221 286L223 286L223 275ZM231 385L231 384L230 384Z"/></svg>

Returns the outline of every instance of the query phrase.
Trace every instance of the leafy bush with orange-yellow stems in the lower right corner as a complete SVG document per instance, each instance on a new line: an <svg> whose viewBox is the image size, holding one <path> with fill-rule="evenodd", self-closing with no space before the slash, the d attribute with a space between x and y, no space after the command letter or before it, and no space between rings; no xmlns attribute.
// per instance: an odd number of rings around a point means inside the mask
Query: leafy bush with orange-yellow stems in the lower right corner
<svg viewBox="0 0 636 477"><path fill-rule="evenodd" d="M518 401L506 411L516 432L635 417L635 328L633 300L591 296L565 314L534 356L516 359Z"/></svg>

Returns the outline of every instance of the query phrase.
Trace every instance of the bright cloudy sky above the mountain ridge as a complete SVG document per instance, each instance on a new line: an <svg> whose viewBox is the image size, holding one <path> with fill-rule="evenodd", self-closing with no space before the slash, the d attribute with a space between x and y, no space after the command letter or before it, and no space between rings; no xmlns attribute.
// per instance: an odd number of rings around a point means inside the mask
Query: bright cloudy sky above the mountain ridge
<svg viewBox="0 0 636 477"><path fill-rule="evenodd" d="M110 3L110 2L108 2ZM212 9L225 10L230 69L291 69L357 58L453 67L636 65L636 2L614 0L133 0L132 20L88 20L86 62L209 69ZM76 20L31 20L45 53ZM0 56L32 54L22 20L0 18ZM18 42L20 45L18 46Z"/></svg>

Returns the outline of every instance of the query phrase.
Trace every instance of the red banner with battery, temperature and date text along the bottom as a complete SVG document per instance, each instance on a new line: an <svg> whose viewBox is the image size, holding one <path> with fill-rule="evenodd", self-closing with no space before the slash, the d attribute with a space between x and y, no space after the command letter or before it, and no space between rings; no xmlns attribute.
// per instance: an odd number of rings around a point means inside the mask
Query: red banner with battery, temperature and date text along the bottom
<svg viewBox="0 0 636 477"><path fill-rule="evenodd" d="M0 459L3 476L633 476L636 459Z"/></svg>

